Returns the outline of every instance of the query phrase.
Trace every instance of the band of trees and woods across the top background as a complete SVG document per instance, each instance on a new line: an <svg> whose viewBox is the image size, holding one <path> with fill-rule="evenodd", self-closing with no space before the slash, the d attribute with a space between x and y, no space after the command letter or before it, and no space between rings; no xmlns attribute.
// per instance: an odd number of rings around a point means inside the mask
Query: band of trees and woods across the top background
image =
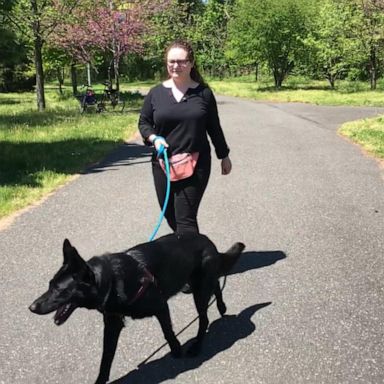
<svg viewBox="0 0 384 384"><path fill-rule="evenodd" d="M0 91L45 82L159 78L164 47L191 41L210 77L361 80L383 75L383 0L1 0Z"/></svg>

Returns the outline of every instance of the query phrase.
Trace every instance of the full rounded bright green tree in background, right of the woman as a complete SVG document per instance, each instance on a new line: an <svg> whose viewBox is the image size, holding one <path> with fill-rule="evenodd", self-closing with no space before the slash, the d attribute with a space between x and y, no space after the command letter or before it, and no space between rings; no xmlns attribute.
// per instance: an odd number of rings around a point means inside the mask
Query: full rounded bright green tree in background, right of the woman
<svg viewBox="0 0 384 384"><path fill-rule="evenodd" d="M243 62L267 63L280 88L303 53L308 0L238 0L230 22L229 47ZM240 36L236 34L240 31Z"/></svg>

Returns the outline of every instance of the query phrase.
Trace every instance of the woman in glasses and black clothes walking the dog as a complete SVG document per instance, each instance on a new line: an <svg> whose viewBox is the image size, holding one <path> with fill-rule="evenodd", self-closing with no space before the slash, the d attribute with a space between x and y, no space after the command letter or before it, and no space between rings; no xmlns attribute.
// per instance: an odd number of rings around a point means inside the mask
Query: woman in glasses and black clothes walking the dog
<svg viewBox="0 0 384 384"><path fill-rule="evenodd" d="M166 194L166 176L157 152L164 146L172 156L194 155L197 163L191 176L171 182L165 217L178 234L198 233L197 211L211 171L207 134L221 159L221 173L228 175L232 164L217 112L215 97L196 67L189 43L178 40L165 52L169 78L152 88L144 100L139 130L147 145L154 145L152 173L160 206ZM183 155L181 155L183 156ZM192 160L191 160L192 161Z"/></svg>

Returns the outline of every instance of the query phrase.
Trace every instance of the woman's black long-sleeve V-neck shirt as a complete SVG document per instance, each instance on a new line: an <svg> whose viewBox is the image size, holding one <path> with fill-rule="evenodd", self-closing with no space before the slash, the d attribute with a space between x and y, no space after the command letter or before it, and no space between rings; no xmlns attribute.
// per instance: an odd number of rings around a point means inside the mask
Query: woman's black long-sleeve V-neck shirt
<svg viewBox="0 0 384 384"><path fill-rule="evenodd" d="M209 154L207 133L219 159L229 153L215 96L204 85L189 88L180 102L163 84L152 88L141 109L139 130L148 145L146 139L150 135L163 136L169 144L170 155L185 152Z"/></svg>

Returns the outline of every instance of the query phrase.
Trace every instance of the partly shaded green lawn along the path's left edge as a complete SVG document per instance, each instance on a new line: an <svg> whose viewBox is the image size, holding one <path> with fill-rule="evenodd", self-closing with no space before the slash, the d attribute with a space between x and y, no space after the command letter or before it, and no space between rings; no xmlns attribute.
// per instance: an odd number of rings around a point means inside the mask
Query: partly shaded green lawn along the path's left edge
<svg viewBox="0 0 384 384"><path fill-rule="evenodd" d="M36 112L33 93L0 94L0 218L51 192L130 137L141 100L128 98L127 113L81 115L77 100L53 90L47 90L49 108L43 113Z"/></svg>

